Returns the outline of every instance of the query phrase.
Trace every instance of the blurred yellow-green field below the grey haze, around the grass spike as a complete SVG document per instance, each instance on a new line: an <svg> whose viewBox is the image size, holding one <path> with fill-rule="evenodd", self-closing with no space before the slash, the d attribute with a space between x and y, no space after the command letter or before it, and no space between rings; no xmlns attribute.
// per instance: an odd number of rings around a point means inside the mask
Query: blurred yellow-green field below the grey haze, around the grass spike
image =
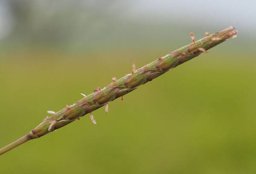
<svg viewBox="0 0 256 174"><path fill-rule="evenodd" d="M255 173L256 69L224 42L124 96L125 101L0 157L0 173ZM182 46L182 45L176 45ZM169 50L9 52L0 64L0 146Z"/></svg>

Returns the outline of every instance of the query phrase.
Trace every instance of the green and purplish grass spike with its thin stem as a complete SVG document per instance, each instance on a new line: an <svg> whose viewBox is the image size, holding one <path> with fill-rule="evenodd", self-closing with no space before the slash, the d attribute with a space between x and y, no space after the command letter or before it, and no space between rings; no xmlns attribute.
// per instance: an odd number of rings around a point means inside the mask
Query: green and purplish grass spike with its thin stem
<svg viewBox="0 0 256 174"><path fill-rule="evenodd" d="M209 35L206 33L206 37L195 42L195 36L191 33L192 43L183 46L172 53L168 53L166 56L160 57L153 62L145 65L136 70L135 62L133 62L133 69L130 74L122 77L121 79L112 79L113 83L100 89L99 87L94 90L90 95L84 95L80 101L77 101L73 105L66 105L64 109L58 112L48 111L53 114L51 117L45 118L35 129L29 132L24 137L15 141L14 143L0 149L0 155L8 152L9 150L25 143L28 140L39 138L52 132L55 129L59 129L73 121L79 120L80 117L90 113L90 120L96 124L96 121L92 115L92 112L100 107L105 106L105 112L108 112L108 102L122 97L123 95L136 90L142 84L151 81L158 76L166 73L171 68L183 64L201 53L208 53L210 48L226 41L229 38L236 36L237 31L233 31L235 28L227 28L222 31L218 31ZM122 97L123 100L123 97Z"/></svg>

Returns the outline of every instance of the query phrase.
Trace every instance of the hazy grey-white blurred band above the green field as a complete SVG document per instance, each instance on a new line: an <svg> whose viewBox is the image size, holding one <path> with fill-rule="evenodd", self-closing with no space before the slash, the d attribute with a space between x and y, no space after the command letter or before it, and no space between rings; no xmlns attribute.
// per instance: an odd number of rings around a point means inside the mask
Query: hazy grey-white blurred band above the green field
<svg viewBox="0 0 256 174"><path fill-rule="evenodd" d="M235 26L240 36L254 40L255 8L255 0L0 0L0 41L49 37L71 43L93 33L121 36L129 28L147 35L167 26L186 32Z"/></svg>

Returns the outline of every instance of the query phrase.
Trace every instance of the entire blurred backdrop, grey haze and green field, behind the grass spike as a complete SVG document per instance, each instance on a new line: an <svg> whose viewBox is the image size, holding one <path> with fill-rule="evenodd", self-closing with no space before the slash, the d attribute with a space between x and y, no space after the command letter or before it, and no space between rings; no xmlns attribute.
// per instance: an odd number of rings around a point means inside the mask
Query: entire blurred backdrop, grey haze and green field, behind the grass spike
<svg viewBox="0 0 256 174"><path fill-rule="evenodd" d="M256 172L254 1L1 0L0 147L111 78L235 26L218 45L0 157L0 174Z"/></svg>

